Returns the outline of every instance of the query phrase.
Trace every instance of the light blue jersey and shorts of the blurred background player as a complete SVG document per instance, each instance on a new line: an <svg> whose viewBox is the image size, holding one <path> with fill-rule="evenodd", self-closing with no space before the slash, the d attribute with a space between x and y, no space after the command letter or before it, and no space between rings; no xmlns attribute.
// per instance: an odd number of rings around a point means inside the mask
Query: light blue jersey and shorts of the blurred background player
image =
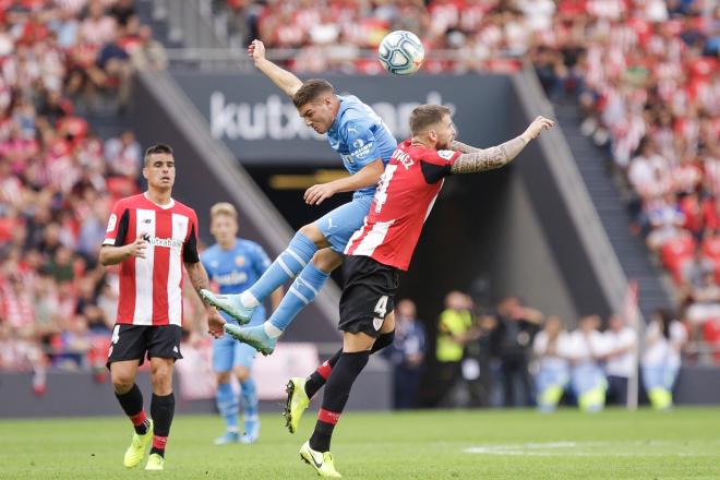
<svg viewBox="0 0 720 480"><path fill-rule="evenodd" d="M262 247L244 239L236 239L235 247L230 250L223 250L216 243L200 255L200 261L209 279L218 284L223 295L243 292L271 264ZM221 315L226 321L235 322L226 313ZM249 325L260 325L264 321L265 308L261 304L253 312ZM227 372L237 365L249 369L254 357L255 350L252 347L236 341L228 334L213 343L213 369L216 372Z"/></svg>

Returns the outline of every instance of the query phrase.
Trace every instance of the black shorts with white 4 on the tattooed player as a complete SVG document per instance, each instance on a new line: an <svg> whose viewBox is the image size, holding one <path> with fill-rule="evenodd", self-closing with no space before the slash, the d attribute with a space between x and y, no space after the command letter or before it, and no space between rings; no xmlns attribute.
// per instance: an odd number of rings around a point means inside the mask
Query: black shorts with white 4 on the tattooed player
<svg viewBox="0 0 720 480"><path fill-rule="evenodd" d="M370 256L348 255L345 260L345 287L340 297L338 328L377 338L385 316L395 309L399 273Z"/></svg>

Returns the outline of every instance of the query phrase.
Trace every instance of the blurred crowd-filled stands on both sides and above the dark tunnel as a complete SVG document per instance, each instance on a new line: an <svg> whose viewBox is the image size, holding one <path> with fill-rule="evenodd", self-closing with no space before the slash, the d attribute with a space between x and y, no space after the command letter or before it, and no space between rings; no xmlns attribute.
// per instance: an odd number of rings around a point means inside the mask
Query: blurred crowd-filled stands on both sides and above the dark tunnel
<svg viewBox="0 0 720 480"><path fill-rule="evenodd" d="M676 284L694 338L720 345L715 2L216 0L213 9L230 45L259 37L299 49L284 65L303 74L382 73L362 51L398 28L425 33L439 52L429 73L513 72L531 61L551 99L579 99L583 129L611 152L633 227ZM2 369L101 370L117 275L97 268L97 247L115 199L137 191L142 152L131 131L100 137L86 117L122 112L133 70L167 65L135 13L132 0L0 0ZM713 278L695 265L708 263Z"/></svg>

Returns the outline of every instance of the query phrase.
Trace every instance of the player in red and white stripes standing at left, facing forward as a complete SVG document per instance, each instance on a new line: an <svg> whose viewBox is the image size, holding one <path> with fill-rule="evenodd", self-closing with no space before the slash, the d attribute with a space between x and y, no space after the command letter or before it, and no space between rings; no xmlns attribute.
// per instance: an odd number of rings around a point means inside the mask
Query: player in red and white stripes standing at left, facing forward
<svg viewBox="0 0 720 480"><path fill-rule="evenodd" d="M123 460L128 468L143 460L152 441L145 469L164 469L175 413L172 370L175 361L182 358L181 265L195 291L209 288L197 256L197 216L172 199L175 175L169 145L147 148L143 167L147 191L116 203L99 253L103 265L120 264L118 316L108 368L116 397L135 429ZM207 307L207 315L211 333L221 336L225 321L212 307ZM145 353L153 384L152 420L135 384Z"/></svg>

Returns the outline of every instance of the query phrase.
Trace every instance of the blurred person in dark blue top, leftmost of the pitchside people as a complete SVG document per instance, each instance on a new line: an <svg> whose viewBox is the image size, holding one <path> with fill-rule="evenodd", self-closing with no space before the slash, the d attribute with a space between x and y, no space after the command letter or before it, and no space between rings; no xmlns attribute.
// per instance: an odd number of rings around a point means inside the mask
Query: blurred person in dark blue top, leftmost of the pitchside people
<svg viewBox="0 0 720 480"><path fill-rule="evenodd" d="M395 341L384 355L393 364L394 407L413 408L423 370L425 333L412 300L400 300L395 307Z"/></svg>

